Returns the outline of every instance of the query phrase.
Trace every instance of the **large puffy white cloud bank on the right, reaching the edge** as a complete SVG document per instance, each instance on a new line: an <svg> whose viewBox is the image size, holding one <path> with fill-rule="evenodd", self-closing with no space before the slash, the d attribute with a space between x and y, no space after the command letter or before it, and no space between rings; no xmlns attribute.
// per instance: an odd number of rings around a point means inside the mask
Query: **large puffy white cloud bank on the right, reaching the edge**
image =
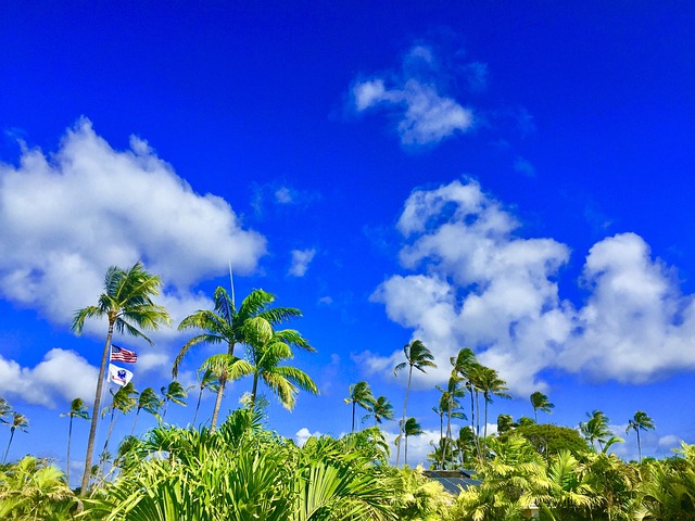
<svg viewBox="0 0 695 521"><path fill-rule="evenodd" d="M438 360L471 347L522 395L545 389L545 369L641 383L695 368L693 298L634 233L591 249L583 270L590 295L576 307L558 289L569 247L520 237L514 215L475 181L416 190L397 229L401 264L415 272L389 277L371 300ZM402 356L357 357L379 373ZM447 366L415 384L445 381Z"/></svg>

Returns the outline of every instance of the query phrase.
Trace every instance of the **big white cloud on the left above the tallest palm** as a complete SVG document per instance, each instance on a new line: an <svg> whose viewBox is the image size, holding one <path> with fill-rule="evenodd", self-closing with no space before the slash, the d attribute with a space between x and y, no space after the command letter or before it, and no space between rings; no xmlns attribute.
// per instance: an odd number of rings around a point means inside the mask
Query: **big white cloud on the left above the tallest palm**
<svg viewBox="0 0 695 521"><path fill-rule="evenodd" d="M251 272L266 247L146 141L114 150L85 118L54 154L24 147L18 166L0 164L0 294L62 323L92 303L111 265L144 260L170 290L167 307L185 316L202 301L192 284L228 262Z"/></svg>

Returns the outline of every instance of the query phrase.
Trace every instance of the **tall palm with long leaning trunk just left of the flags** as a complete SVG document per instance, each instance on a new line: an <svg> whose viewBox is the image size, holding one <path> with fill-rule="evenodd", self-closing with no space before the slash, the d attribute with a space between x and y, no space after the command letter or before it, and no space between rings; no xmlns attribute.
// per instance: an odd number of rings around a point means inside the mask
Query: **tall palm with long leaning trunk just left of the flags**
<svg viewBox="0 0 695 521"><path fill-rule="evenodd" d="M77 334L83 332L87 318L106 317L109 321L106 341L104 342L104 351L99 366L91 424L89 427L89 440L87 442L87 455L85 457L85 471L81 483L83 493L87 492L87 486L89 485L99 409L101 407L101 393L113 332L115 330L122 334L127 333L132 336L140 336L152 344L152 341L142 333L142 330L156 330L162 325L168 326L172 320L164 307L152 302L152 297L160 294L161 285L160 278L146 271L139 260L128 270L111 266L106 270L104 293L99 296L99 304L75 312L72 330Z"/></svg>

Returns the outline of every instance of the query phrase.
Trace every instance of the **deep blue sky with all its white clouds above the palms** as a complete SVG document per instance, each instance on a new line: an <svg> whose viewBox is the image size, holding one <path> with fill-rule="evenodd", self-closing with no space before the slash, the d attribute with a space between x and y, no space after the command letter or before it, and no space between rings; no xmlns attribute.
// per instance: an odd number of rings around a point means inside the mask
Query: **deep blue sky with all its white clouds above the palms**
<svg viewBox="0 0 695 521"><path fill-rule="evenodd" d="M432 436L433 385L469 346L516 398L491 420L541 390L548 421L602 409L621 434L643 409L645 454L694 443L695 10L333 3L0 7L0 396L31 423L10 457L64 463L59 414L92 399L105 332L71 317L137 259L175 323L229 262L239 297L304 312L318 353L294 363L321 394L270 406L287 436L349 430L363 379L402 410L392 368L417 338L439 368L408 416ZM153 339L116 339L138 389L168 383L187 335Z"/></svg>

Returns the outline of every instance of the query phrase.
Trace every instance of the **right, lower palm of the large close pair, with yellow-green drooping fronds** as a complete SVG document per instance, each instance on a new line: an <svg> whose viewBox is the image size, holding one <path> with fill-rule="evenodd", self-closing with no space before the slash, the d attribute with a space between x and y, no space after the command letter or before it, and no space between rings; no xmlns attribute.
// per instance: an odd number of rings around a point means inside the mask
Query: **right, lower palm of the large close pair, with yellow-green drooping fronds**
<svg viewBox="0 0 695 521"><path fill-rule="evenodd" d="M263 317L254 317L247 321L244 336L249 346L248 356L253 373L252 409L255 408L258 380L263 380L279 398L282 407L288 410L294 408L300 389L315 395L318 394L318 387L308 374L296 367L280 365L282 361L293 358L292 347L315 351L299 331L293 329L274 331L268 320Z"/></svg>

